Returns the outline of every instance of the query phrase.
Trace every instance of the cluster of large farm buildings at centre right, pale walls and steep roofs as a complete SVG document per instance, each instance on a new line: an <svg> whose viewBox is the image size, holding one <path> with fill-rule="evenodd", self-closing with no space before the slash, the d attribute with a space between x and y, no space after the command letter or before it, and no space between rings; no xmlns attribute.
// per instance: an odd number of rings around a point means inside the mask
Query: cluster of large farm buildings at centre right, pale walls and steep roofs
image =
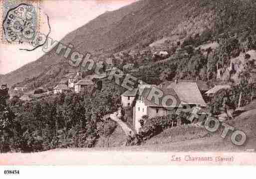
<svg viewBox="0 0 256 179"><path fill-rule="evenodd" d="M159 98L159 105L155 103L154 98L149 100L149 94L153 87L163 92L163 97ZM223 88L228 87L224 86ZM206 108L205 101L209 95L213 95L223 88L220 85L210 89L206 82L199 80L167 81L159 86L140 84L138 88L124 92L121 95L121 100L124 108L130 108L133 111L133 127L138 132L141 128L140 120L144 115L149 118L172 115L178 108L183 108L183 105L189 105L191 108ZM165 96L172 96L173 100L169 103L167 101L162 103Z"/></svg>

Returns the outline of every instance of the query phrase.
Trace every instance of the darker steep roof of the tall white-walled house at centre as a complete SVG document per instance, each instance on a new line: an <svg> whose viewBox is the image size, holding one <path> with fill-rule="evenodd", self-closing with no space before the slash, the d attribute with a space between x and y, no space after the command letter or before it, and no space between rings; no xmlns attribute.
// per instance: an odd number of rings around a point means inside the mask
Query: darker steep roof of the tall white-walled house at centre
<svg viewBox="0 0 256 179"><path fill-rule="evenodd" d="M154 97L149 100L148 96L153 88L144 88L139 89L139 95L142 96L142 100L146 106L150 107L178 107L180 105L180 99L174 89L172 88L161 88L160 90L163 92L163 97L159 98L159 104L156 104L157 101L155 101ZM168 98L168 100L162 104L163 99L165 96L173 96L176 101L171 100L171 98Z"/></svg>

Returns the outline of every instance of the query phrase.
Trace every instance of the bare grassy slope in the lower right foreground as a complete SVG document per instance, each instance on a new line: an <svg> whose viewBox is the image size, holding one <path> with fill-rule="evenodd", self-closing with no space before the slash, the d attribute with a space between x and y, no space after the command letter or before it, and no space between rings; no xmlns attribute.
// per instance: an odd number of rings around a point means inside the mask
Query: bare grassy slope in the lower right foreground
<svg viewBox="0 0 256 179"><path fill-rule="evenodd" d="M204 128L195 126L181 126L167 129L152 139L146 141L142 149L155 149L164 151L229 151L246 152L248 149L256 150L256 110L247 111L228 124L237 130L245 132L247 142L243 146L231 143L231 132L221 138L224 127L216 133L210 133ZM162 149L161 149L162 148Z"/></svg>

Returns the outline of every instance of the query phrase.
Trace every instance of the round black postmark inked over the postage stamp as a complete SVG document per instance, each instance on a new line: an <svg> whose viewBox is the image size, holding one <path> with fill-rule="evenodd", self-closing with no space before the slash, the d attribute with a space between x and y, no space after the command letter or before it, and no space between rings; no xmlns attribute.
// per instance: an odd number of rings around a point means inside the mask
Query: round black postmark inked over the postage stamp
<svg viewBox="0 0 256 179"><path fill-rule="evenodd" d="M2 26L3 37L8 42L31 43L36 37L37 8L26 3L9 8Z"/></svg>

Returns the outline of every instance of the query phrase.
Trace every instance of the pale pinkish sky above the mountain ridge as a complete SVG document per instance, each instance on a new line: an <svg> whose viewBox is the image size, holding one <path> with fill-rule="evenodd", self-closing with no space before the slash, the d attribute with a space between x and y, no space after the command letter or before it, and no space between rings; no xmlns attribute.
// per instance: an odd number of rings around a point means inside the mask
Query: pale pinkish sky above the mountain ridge
<svg viewBox="0 0 256 179"><path fill-rule="evenodd" d="M0 0L1 1L1 0ZM47 34L48 26L44 12L50 18L50 37L61 40L68 32L86 24L98 15L118 9L136 0L43 0L41 7L40 32ZM2 30L2 29L1 29ZM3 44L0 42L0 74L6 74L38 59L43 55L40 48L34 51L21 51L31 48L28 45Z"/></svg>

